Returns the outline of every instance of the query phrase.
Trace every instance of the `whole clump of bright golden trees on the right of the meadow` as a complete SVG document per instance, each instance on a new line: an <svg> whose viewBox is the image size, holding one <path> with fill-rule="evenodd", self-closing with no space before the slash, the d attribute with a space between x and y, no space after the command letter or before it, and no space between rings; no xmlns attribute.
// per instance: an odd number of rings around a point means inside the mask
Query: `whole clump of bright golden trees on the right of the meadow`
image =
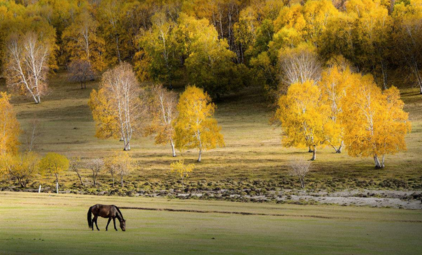
<svg viewBox="0 0 422 255"><path fill-rule="evenodd" d="M318 146L341 152L344 144L350 156L373 157L375 167L383 168L385 155L406 149L411 124L399 90L382 91L371 75L348 67L324 71L319 82L290 85L278 106L283 144L310 146L312 160Z"/></svg>

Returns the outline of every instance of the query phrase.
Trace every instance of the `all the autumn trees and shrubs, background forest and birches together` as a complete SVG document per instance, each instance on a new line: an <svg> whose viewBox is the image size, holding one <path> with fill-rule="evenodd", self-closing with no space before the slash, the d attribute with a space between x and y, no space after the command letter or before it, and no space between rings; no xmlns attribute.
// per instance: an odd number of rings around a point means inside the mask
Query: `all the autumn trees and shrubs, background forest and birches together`
<svg viewBox="0 0 422 255"><path fill-rule="evenodd" d="M217 104L257 88L283 147L306 148L312 161L320 148L346 150L381 169L412 130L398 88L422 94L420 0L3 0L0 17L1 173L22 187L45 173L58 185L63 171L84 168L94 186L107 169L123 188L136 168L117 151L85 164L56 152L41 159L39 120L22 130L11 98L39 107L63 73L81 90L99 82L87 103L95 137L124 151L153 137L173 157L197 149L198 162L225 146ZM304 187L309 163L299 161L291 171ZM183 180L194 165L169 168Z"/></svg>

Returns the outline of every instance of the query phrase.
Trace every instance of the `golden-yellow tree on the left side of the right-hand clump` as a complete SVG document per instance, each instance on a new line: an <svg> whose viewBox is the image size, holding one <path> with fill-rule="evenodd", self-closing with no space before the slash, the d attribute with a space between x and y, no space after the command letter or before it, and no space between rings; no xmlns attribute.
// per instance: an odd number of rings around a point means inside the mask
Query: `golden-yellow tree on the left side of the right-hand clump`
<svg viewBox="0 0 422 255"><path fill-rule="evenodd" d="M280 97L276 112L283 129L283 145L312 148L312 160L316 160L317 146L327 143L324 116L328 107L321 105L319 98L320 91L313 81L294 83Z"/></svg>

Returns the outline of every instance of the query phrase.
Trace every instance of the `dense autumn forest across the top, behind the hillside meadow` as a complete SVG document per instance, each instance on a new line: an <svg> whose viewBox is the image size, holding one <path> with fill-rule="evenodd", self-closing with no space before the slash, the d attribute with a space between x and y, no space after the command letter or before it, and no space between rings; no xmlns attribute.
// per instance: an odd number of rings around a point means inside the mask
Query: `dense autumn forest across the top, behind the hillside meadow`
<svg viewBox="0 0 422 255"><path fill-rule="evenodd" d="M422 92L421 5L420 0L2 0L0 61L9 86L36 103L46 90L48 70L82 65L79 77L91 69L82 76L92 78L120 62L134 65L140 81L195 84L213 98L248 85L274 95L286 85L283 63L304 47L323 65L344 56L383 89L407 83Z"/></svg>

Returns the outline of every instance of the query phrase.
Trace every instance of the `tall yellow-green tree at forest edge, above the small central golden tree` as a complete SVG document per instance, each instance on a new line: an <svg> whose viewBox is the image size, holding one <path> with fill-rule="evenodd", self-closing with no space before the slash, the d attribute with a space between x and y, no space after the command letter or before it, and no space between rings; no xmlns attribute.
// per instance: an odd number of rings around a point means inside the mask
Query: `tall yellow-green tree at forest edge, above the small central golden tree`
<svg viewBox="0 0 422 255"><path fill-rule="evenodd" d="M212 97L239 89L242 65L235 65L236 54L206 19L180 15L179 36L187 57L185 66L192 84L202 87ZM243 72L246 75L247 72Z"/></svg>

